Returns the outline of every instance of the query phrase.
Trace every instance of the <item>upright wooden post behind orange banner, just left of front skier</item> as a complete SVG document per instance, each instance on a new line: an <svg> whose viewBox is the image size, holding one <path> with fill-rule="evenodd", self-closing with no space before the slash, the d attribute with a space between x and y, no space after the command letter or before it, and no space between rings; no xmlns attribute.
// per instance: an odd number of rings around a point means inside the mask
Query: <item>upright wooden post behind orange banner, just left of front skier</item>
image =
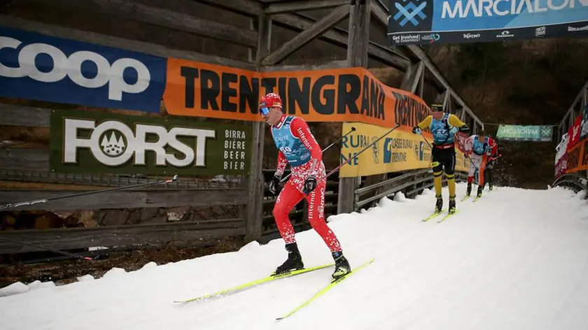
<svg viewBox="0 0 588 330"><path fill-rule="evenodd" d="M257 19L258 48L255 54L257 70L260 69L260 62L269 52L269 41L272 36L272 20L265 15ZM248 203L246 213L246 235L245 240L255 241L261 238L262 214L263 214L263 192L264 178L263 167L263 142L265 137L265 122L253 122L253 148L251 148L251 174L248 177Z"/></svg>

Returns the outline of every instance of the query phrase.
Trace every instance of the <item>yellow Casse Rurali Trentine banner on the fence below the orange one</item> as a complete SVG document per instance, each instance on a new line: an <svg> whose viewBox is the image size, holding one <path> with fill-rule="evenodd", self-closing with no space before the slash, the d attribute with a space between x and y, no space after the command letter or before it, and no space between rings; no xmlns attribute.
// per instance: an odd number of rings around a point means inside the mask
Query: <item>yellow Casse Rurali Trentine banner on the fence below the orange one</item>
<svg viewBox="0 0 588 330"><path fill-rule="evenodd" d="M345 122L342 131L349 132L351 127L355 127L356 131L342 139L340 162L348 163L339 170L340 178L431 167L430 147L423 139L425 136L427 141L433 141L430 133L423 132L423 136L420 136L412 133L411 127L401 126L374 143L358 157L351 159L390 131L388 127L360 122ZM468 159L463 157L463 152L457 147L456 152L456 171L468 171L470 168Z"/></svg>

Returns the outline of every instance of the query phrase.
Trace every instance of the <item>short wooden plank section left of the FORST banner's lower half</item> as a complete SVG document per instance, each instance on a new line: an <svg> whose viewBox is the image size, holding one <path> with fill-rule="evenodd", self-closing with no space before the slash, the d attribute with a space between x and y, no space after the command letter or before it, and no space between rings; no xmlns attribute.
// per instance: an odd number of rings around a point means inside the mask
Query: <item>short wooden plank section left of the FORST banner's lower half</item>
<svg viewBox="0 0 588 330"><path fill-rule="evenodd" d="M0 168L13 171L49 171L49 150L0 149Z"/></svg>

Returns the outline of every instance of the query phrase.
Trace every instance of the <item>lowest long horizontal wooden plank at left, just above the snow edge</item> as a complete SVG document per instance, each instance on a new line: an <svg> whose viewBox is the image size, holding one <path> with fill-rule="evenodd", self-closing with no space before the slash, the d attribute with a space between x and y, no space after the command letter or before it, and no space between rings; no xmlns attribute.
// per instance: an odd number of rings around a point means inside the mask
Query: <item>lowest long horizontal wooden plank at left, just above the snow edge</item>
<svg viewBox="0 0 588 330"><path fill-rule="evenodd" d="M160 245L170 242L194 242L244 234L244 221L173 222L135 224L117 227L67 228L0 231L0 254L43 251L38 247L4 241L30 243L50 249L65 250L96 246Z"/></svg>

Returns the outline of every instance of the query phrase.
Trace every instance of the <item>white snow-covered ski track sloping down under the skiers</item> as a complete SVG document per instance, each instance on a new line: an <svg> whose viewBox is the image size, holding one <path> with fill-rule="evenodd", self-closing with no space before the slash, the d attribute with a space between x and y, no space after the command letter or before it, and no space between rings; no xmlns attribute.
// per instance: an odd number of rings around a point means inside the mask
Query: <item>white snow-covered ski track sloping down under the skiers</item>
<svg viewBox="0 0 588 330"><path fill-rule="evenodd" d="M457 189L461 199L465 185ZM444 196L447 206L446 188ZM584 330L588 203L581 197L561 188L499 187L476 203L458 201L460 213L438 224L420 221L435 203L426 191L330 217L351 266L375 261L280 322L274 319L330 281L332 268L173 303L272 273L286 257L283 241L274 240L131 273L113 268L70 285L14 285L23 293L0 298L1 329ZM297 240L306 266L332 261L314 231Z"/></svg>

